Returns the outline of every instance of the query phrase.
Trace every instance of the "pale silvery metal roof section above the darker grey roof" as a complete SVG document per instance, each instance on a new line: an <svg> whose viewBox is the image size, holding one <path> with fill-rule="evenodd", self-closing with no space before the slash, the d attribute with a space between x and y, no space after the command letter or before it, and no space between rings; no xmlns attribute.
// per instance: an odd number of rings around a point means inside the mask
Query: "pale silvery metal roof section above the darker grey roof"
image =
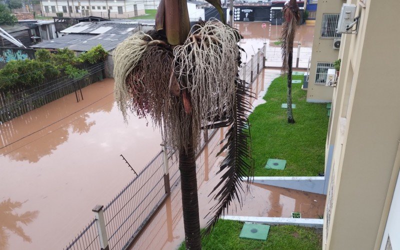
<svg viewBox="0 0 400 250"><path fill-rule="evenodd" d="M139 23L135 20L110 20L98 22L79 22L61 32L79 34L125 34L138 27Z"/></svg>

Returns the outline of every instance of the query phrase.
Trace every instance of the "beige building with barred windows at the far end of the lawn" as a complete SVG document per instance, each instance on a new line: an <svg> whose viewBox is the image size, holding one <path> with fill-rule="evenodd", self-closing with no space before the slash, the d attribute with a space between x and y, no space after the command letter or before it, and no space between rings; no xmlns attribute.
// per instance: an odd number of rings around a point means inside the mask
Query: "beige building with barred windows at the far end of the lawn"
<svg viewBox="0 0 400 250"><path fill-rule="evenodd" d="M325 86L327 70L333 67L338 58L339 49L334 42L340 40L336 33L337 20L342 0L324 0L318 2L315 16L314 39L307 87L307 101L330 102L333 89Z"/></svg>

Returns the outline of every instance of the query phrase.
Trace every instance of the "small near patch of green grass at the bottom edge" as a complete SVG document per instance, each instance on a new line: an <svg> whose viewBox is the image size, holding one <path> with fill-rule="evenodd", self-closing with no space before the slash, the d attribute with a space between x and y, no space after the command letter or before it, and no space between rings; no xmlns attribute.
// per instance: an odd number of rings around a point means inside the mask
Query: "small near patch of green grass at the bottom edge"
<svg viewBox="0 0 400 250"><path fill-rule="evenodd" d="M321 231L294 225L276 225L269 228L265 241L239 238L243 222L220 219L214 230L202 238L202 249L279 249L301 250L321 249ZM184 250L185 244L179 247Z"/></svg>

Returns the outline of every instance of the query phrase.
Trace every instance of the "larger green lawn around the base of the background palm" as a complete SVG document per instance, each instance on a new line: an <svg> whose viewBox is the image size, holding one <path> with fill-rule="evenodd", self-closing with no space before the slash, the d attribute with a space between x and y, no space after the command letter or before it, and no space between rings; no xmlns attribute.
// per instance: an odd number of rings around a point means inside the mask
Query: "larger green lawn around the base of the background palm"
<svg viewBox="0 0 400 250"><path fill-rule="evenodd" d="M303 76L293 76L301 79ZM316 176L324 169L324 151L329 117L326 103L306 102L301 83L292 84L295 123L287 123L286 78L277 77L269 86L266 103L249 116L255 176ZM268 158L286 160L284 170L265 169Z"/></svg>

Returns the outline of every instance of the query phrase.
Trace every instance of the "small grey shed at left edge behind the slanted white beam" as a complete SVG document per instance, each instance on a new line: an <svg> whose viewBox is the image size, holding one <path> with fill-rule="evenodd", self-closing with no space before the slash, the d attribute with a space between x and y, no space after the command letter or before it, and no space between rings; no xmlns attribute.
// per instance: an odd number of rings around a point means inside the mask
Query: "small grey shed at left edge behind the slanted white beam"
<svg viewBox="0 0 400 250"><path fill-rule="evenodd" d="M30 29L28 27L19 25L19 24L15 24L13 26L2 24L2 25L0 25L0 28L2 28L5 32L10 34L15 39L19 40L23 45L25 45L25 47L30 46L31 33L30 33ZM18 47L17 45L15 45L14 43L5 39L2 36L0 36L0 46L1 47Z"/></svg>

